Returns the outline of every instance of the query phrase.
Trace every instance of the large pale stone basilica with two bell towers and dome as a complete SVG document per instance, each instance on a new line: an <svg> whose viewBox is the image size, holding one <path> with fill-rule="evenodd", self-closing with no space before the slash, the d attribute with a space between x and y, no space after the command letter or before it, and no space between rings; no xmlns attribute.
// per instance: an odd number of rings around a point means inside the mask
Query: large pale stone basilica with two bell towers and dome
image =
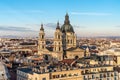
<svg viewBox="0 0 120 80"><path fill-rule="evenodd" d="M77 44L77 36L70 23L68 13L65 15L64 24L62 26L59 25L59 22L56 24L52 51L46 48L44 26L41 24L38 39L38 55L47 56L48 60L54 58L58 61L84 57L85 54L89 55L89 51L80 49Z"/></svg>

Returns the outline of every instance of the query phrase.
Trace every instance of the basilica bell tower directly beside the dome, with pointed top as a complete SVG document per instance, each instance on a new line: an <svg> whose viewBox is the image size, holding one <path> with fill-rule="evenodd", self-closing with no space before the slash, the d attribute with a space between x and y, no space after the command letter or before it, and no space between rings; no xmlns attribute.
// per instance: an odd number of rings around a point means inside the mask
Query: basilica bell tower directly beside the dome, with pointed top
<svg viewBox="0 0 120 80"><path fill-rule="evenodd" d="M54 49L55 52L62 52L62 32L60 30L59 22L57 22L56 31L54 34Z"/></svg>

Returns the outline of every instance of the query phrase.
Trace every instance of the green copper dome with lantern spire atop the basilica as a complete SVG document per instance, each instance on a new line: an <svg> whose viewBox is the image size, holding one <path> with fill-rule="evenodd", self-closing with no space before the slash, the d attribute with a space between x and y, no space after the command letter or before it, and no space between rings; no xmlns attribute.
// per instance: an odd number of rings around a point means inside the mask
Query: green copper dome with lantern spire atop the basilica
<svg viewBox="0 0 120 80"><path fill-rule="evenodd" d="M64 24L61 26L61 31L62 32L74 32L73 27L70 24L68 14L65 15L65 21L64 21Z"/></svg>

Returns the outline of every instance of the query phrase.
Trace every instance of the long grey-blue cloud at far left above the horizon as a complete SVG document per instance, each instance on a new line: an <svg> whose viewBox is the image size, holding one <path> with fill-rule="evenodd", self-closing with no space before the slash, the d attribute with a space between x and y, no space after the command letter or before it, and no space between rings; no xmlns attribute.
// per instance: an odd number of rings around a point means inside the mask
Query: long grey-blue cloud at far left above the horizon
<svg viewBox="0 0 120 80"><path fill-rule="evenodd" d="M15 26L0 26L0 31L34 31L31 30L30 28L26 28L26 27L15 27Z"/></svg>

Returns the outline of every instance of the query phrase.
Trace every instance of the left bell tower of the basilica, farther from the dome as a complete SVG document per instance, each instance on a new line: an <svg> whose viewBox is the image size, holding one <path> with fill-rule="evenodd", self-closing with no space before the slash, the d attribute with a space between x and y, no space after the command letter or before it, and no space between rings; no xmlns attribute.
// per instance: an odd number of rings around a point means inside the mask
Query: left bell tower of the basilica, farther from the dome
<svg viewBox="0 0 120 80"><path fill-rule="evenodd" d="M41 51L45 49L45 46L46 46L45 32L44 32L43 24L41 24L39 39L38 39L38 54L41 54Z"/></svg>

